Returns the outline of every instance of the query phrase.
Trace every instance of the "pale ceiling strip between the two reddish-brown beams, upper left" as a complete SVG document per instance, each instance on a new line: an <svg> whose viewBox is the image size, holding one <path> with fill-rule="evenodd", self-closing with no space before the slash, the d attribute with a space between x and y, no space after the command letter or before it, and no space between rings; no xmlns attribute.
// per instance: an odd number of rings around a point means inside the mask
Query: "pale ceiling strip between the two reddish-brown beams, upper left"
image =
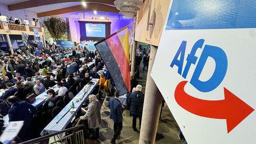
<svg viewBox="0 0 256 144"><path fill-rule="evenodd" d="M40 13L40 12L45 12L45 11L53 11L55 9L73 7L76 5L81 5L81 2L64 2L64 3L59 3L59 4L43 5L43 6L34 7L34 8L27 8L25 10Z"/></svg>

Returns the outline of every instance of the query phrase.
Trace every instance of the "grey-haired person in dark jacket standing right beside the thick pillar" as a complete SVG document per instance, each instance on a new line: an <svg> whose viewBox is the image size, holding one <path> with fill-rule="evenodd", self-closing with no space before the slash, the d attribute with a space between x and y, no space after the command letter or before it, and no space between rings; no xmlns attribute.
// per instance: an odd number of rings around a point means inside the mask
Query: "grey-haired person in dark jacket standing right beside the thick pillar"
<svg viewBox="0 0 256 144"><path fill-rule="evenodd" d="M136 129L137 117L139 117L139 125L141 125L143 102L144 94L142 93L142 86L137 85L136 91L132 92L127 104L130 107L130 114L133 116L133 130L136 132L138 132Z"/></svg>

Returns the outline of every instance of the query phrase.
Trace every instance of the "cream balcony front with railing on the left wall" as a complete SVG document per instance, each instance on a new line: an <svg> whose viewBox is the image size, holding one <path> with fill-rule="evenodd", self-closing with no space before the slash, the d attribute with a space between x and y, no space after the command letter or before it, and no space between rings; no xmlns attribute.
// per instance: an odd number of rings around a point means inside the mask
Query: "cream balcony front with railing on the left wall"
<svg viewBox="0 0 256 144"><path fill-rule="evenodd" d="M34 35L34 29L38 30L40 36L44 35L43 27L35 27L30 25L20 25L20 24L11 24L11 23L0 23L0 34L18 34L21 32L28 35Z"/></svg>

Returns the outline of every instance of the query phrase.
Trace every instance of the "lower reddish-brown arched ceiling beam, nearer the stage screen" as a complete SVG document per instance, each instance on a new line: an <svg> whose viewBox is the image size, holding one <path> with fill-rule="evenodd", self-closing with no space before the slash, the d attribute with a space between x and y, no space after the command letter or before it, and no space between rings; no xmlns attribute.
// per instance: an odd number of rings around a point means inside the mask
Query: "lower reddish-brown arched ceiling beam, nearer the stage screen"
<svg viewBox="0 0 256 144"><path fill-rule="evenodd" d="M37 17L48 17L52 15L66 14L70 12L94 11L94 10L119 13L119 10L117 10L116 7L111 7L109 5L104 5L104 4L89 3L87 4L86 8L82 7L82 5L77 5L69 8L62 8L62 9L56 9L53 11L40 12L40 13L37 13Z"/></svg>

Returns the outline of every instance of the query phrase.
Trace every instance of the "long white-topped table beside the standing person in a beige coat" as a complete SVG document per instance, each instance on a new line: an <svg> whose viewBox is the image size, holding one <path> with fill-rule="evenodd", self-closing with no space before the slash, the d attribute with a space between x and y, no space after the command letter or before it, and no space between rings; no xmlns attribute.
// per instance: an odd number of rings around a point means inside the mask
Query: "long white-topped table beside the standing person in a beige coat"
<svg viewBox="0 0 256 144"><path fill-rule="evenodd" d="M92 79L92 85L89 87L89 84L85 85L85 87L82 88L82 90L66 105L66 107L64 107L62 111L60 111L60 113L57 114L57 116L46 127L44 127L43 131L41 132L41 136L46 135L46 133L52 134L64 130L66 126L68 126L68 124L71 122L73 117L75 117L75 114L78 112L78 110L82 107L82 104L87 100L88 96L94 90L98 84L98 81L99 79ZM84 97L79 100L82 95L84 95ZM72 102L75 104L75 108L72 109L73 113L70 112Z"/></svg>

